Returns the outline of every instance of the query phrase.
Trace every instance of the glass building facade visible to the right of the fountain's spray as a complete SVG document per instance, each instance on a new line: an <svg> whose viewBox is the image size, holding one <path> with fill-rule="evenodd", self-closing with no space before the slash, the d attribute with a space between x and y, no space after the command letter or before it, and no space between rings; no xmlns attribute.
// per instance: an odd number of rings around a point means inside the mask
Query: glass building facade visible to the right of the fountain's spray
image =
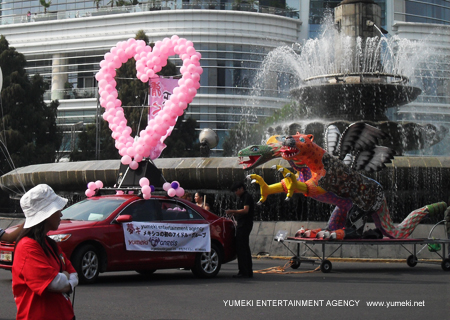
<svg viewBox="0 0 450 320"><path fill-rule="evenodd" d="M393 110L392 117L450 129L450 1L397 0L390 8L391 33L413 41L426 41L433 51L426 64L416 71L423 79L422 94L414 102ZM448 155L450 134L426 152Z"/></svg>

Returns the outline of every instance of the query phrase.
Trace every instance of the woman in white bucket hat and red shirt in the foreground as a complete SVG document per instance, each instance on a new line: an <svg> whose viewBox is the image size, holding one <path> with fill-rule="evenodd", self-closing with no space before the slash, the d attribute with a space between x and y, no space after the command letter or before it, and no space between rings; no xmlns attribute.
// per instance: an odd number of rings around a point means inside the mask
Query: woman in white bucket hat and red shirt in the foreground
<svg viewBox="0 0 450 320"><path fill-rule="evenodd" d="M20 199L25 225L17 238L12 268L16 319L74 319L69 294L78 275L58 247L47 236L57 230L67 199L46 184L32 188Z"/></svg>

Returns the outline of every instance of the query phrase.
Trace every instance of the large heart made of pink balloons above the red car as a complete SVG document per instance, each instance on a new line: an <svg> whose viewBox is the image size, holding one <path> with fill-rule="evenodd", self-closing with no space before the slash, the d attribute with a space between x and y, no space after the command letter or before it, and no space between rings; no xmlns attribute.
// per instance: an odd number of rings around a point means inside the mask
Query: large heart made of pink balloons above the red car
<svg viewBox="0 0 450 320"><path fill-rule="evenodd" d="M127 126L122 108L122 101L118 99L116 89L116 69L129 59L136 60L137 78L148 82L150 78L157 78L157 72L167 64L169 56L178 54L183 61L180 68L182 77L178 80L178 87L166 101L164 108L156 117L149 121L147 127L139 133L137 139L131 137L131 128ZM153 49L143 40L128 39L118 42L106 53L100 62L100 71L95 75L98 81L100 105L105 108L103 119L108 121L112 130L111 136L116 141L115 146L122 156L121 162L129 165L130 169L137 169L143 158L150 157L154 149L162 143L161 139L167 130L174 126L177 117L184 113L188 103L197 94L200 88L201 54L194 49L191 41L174 35L170 39L157 41Z"/></svg>

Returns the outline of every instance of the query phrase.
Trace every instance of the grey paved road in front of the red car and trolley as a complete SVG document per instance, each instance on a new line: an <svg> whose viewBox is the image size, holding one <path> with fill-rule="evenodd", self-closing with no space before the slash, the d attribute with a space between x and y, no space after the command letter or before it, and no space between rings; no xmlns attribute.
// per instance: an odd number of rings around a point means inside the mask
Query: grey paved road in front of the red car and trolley
<svg viewBox="0 0 450 320"><path fill-rule="evenodd" d="M285 262L261 259L254 266ZM313 268L302 264L297 271ZM102 274L98 283L77 288L77 320L449 319L450 273L440 265L333 262L328 274L256 274L245 281L231 277L236 269L236 262L226 264L211 280L181 270L157 271L147 279L134 272ZM0 290L0 319L14 319L11 275L4 270ZM385 306L367 306L372 302Z"/></svg>

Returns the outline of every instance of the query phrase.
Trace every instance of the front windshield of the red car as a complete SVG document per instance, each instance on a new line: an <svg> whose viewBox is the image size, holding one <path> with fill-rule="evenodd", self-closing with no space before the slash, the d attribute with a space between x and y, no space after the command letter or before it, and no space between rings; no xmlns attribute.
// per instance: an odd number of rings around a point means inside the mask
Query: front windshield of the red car
<svg viewBox="0 0 450 320"><path fill-rule="evenodd" d="M86 199L62 211L62 220L101 221L106 219L126 199Z"/></svg>

